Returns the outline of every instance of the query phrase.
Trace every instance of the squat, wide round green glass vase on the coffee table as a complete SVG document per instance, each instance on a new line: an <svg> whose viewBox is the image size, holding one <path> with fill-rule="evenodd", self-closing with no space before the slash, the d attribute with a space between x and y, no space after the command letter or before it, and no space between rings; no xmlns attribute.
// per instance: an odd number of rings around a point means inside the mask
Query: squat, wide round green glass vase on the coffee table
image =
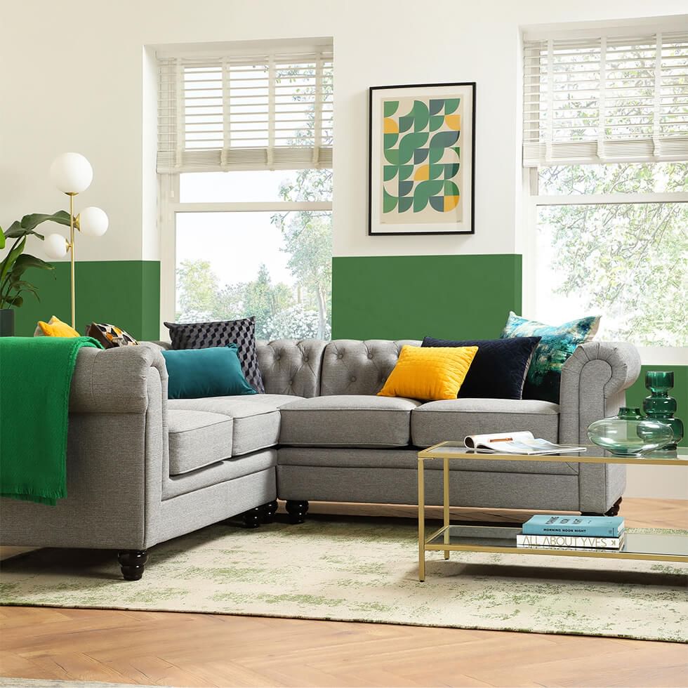
<svg viewBox="0 0 688 688"><path fill-rule="evenodd" d="M602 418L588 427L590 442L608 449L618 456L640 456L666 446L673 431L659 421L649 418Z"/></svg>

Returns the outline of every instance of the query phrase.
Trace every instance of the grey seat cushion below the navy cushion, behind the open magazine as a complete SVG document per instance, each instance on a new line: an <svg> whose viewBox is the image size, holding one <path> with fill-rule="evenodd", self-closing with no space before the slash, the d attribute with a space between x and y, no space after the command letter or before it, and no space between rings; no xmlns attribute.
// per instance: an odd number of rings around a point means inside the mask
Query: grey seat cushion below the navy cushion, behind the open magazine
<svg viewBox="0 0 688 688"><path fill-rule="evenodd" d="M530 430L535 437L557 442L558 427L559 405L536 399L444 399L418 406L411 414L416 446L512 430Z"/></svg>

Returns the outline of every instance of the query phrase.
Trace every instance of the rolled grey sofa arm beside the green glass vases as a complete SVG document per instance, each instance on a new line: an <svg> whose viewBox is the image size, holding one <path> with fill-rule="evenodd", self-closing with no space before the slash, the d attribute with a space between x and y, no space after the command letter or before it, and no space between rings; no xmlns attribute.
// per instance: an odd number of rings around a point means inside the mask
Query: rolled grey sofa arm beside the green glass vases
<svg viewBox="0 0 688 688"><path fill-rule="evenodd" d="M623 342L578 346L562 368L559 441L588 444L588 425L616 415L640 375L640 355Z"/></svg>

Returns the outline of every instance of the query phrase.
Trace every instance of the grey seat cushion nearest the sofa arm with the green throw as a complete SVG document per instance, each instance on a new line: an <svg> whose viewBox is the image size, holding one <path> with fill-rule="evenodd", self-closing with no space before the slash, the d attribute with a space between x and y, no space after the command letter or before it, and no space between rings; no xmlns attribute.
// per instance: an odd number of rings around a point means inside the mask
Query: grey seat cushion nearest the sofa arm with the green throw
<svg viewBox="0 0 688 688"><path fill-rule="evenodd" d="M170 475L181 475L232 456L232 420L205 411L168 412Z"/></svg>

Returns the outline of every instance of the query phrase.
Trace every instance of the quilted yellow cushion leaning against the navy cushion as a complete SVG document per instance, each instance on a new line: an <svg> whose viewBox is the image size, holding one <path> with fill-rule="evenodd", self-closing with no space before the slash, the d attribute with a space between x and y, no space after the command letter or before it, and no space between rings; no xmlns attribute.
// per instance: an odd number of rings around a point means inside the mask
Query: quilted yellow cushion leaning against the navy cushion
<svg viewBox="0 0 688 688"><path fill-rule="evenodd" d="M456 399L477 350L477 346L404 345L378 397Z"/></svg>

